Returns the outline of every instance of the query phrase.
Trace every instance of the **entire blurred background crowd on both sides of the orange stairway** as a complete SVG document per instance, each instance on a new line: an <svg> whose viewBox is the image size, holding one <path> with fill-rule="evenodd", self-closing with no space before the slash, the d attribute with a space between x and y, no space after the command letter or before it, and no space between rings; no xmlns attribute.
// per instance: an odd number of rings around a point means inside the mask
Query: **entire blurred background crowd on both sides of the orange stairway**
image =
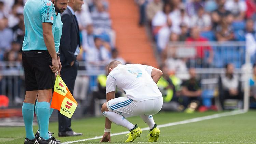
<svg viewBox="0 0 256 144"><path fill-rule="evenodd" d="M0 0L0 70L8 70L8 73L11 73L11 70L22 70L20 62L25 34L23 21L25 2L26 0ZM176 44L183 41L192 47L194 41L205 43L246 40L250 44L246 48L250 49L251 61L254 63L256 1L135 0L135 2L139 5L139 25L150 26L151 35L162 59L163 76L158 82L158 87L164 98L163 110L187 113L193 113L196 109L217 110L215 96L218 96L222 109L229 109L228 106L241 107L243 83L240 75L234 73L234 68L241 68L244 64L245 57L241 56L245 55L244 51L241 51L244 47L233 47L232 50L228 50L228 47L197 44L193 46L195 51L185 49L184 52L184 49L179 50L177 46L169 45L169 42ZM89 76L77 77L74 97L82 103L87 101L83 104L92 108L88 111L96 110L97 105L101 104L99 99L105 99L106 74L98 75L97 71L104 71L106 64L112 60L127 63L119 56L115 47L116 35L112 29L108 9L107 0L85 0L82 10L76 12L82 43L77 59L82 62L80 70L86 70L85 75ZM221 52L216 49L221 49ZM193 58L190 58L191 53L194 53ZM228 61L228 54L232 56L231 61ZM234 59L234 56L242 58ZM205 67L226 68L225 73L219 76L218 87L215 90L203 89L200 76L196 75L194 68ZM188 76L179 76L183 72ZM8 97L12 97L15 103L21 103L23 80L23 77L0 76L0 93L8 93ZM255 81L256 65L253 66L253 76L250 80L251 101L256 99ZM8 89L10 86L11 90ZM122 96L119 91L116 92L118 97Z"/></svg>

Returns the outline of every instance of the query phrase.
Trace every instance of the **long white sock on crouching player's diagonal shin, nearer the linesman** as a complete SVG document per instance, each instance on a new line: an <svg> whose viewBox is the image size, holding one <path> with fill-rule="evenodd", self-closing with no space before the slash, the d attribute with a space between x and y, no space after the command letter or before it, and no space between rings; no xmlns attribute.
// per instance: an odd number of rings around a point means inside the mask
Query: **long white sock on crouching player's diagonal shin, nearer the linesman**
<svg viewBox="0 0 256 144"><path fill-rule="evenodd" d="M125 117L123 117L120 114L117 114L115 112L104 112L103 113L105 117L107 117L111 122L123 126L125 128L127 128L128 130L133 129L134 125L132 123L130 123L129 121L127 121L127 119L125 119Z"/></svg>

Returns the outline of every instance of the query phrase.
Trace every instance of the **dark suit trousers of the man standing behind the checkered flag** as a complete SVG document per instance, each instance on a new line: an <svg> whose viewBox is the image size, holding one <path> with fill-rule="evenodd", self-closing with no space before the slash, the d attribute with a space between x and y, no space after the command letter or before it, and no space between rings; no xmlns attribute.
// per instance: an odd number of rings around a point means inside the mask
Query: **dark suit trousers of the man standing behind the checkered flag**
<svg viewBox="0 0 256 144"><path fill-rule="evenodd" d="M78 61L74 62L73 66L65 66L61 69L61 78L63 79L64 83L67 85L69 91L73 95L74 86L75 86L75 79L77 76L78 71ZM68 118L62 115L58 111L58 119L59 119L59 132L66 132L71 131L71 118Z"/></svg>

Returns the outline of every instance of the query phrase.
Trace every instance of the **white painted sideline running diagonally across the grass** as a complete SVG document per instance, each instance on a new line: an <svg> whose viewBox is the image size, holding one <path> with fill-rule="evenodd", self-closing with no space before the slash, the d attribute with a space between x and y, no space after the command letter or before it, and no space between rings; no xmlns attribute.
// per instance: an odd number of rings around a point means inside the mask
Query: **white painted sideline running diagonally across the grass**
<svg viewBox="0 0 256 144"><path fill-rule="evenodd" d="M245 111L243 110L236 110L236 111L231 111L231 112L224 112L224 113L220 113L220 114L213 114L213 115L209 115L209 116L203 116L203 117L197 117L197 118L192 118L192 119L187 119L184 121L179 121L179 122L172 122L172 123L167 123L167 124L163 124L163 125L158 125L159 128L161 127L169 127L169 126L174 126L174 125L180 125L180 124L187 124L187 123L193 123L193 122L199 122L199 121L204 121L204 120L208 120L208 119L213 119L213 118L219 118L219 117L224 117L224 116L231 116L231 115L237 115L237 114L242 114L245 113ZM149 130L149 128L142 128L143 130ZM124 131L124 132L120 132L120 133L114 133L111 134L111 136L115 136L115 135L122 135L122 134L127 134L129 133L129 131ZM100 139L102 138L102 136L97 136L97 137L93 137L93 138L88 138L88 139L82 139L82 140L76 140L76 141L69 141L69 142L63 142L62 144L71 144L71 143L75 143L75 142L83 142L83 141L87 141L87 140L95 140L95 139ZM182 143L182 142L179 142ZM187 143L187 142L185 142ZM209 143L224 143L224 142L209 142ZM234 142L234 143L238 143L238 142ZM255 142L253 142L255 143Z"/></svg>

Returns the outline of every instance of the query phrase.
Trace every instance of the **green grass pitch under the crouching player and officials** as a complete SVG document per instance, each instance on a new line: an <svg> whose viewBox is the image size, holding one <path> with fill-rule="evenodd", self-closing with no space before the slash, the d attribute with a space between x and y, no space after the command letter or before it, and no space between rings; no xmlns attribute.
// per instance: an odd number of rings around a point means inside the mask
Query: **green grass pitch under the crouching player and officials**
<svg viewBox="0 0 256 144"><path fill-rule="evenodd" d="M160 112L154 115L157 124L166 124L186 119L202 117L216 114L218 112L196 112L194 114L176 113L176 112ZM147 125L140 117L127 118L133 124L138 124L144 128ZM72 129L76 132L83 133L80 137L57 137L58 123L52 122L49 130L55 132L55 138L61 142L75 141L80 139L93 138L102 136L104 133L105 118L85 118L72 121ZM34 132L37 130L34 126ZM111 133L119 133L127 131L127 129L112 124ZM251 110L244 114L214 118L199 122L175 125L160 128L161 134L157 143L181 143L181 144L205 144L205 143L256 143L256 110ZM141 137L135 142L147 143L148 131L142 131ZM25 139L24 127L0 127L0 144L22 144ZM111 143L123 143L126 140L125 134L111 137ZM74 144L99 143L100 139L77 142Z"/></svg>

